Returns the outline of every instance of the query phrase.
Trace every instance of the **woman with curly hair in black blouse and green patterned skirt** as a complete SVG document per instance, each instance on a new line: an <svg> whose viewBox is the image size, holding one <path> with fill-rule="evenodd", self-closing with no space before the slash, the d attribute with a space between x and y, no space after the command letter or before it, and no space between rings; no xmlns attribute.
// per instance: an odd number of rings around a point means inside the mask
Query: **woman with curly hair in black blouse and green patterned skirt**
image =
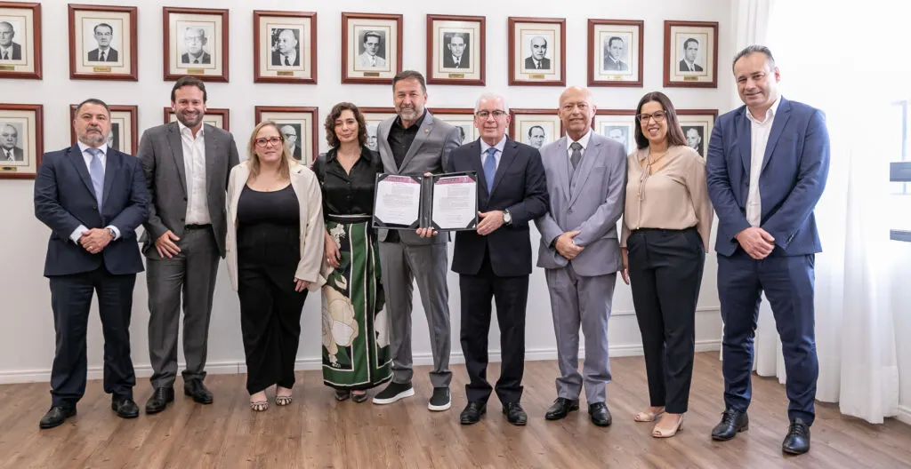
<svg viewBox="0 0 911 469"><path fill-rule="evenodd" d="M379 250L371 227L380 155L366 146L367 125L356 105L339 103L326 116L329 152L313 171L325 217L322 287L322 383L335 399L367 400L367 390L392 378L389 334L380 284Z"/></svg>

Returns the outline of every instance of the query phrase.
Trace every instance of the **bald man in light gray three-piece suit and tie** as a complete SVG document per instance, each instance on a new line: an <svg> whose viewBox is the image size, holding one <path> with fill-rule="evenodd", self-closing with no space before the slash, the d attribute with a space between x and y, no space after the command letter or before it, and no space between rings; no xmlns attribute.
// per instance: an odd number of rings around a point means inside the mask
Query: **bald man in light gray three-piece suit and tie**
<svg viewBox="0 0 911 469"><path fill-rule="evenodd" d="M560 95L567 135L541 148L550 207L536 220L541 234L537 266L546 269L557 334L557 400L545 418L578 410L585 382L591 422L610 424L605 384L610 381L608 319L620 269L617 222L626 193L623 145L591 130L595 105L588 89ZM578 331L585 334L585 364L578 373Z"/></svg>

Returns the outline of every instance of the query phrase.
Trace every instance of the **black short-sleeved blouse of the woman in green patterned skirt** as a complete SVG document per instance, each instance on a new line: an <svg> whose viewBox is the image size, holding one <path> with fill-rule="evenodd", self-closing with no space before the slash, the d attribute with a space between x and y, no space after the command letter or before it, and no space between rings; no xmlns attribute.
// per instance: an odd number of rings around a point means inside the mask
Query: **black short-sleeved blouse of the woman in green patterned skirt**
<svg viewBox="0 0 911 469"><path fill-rule="evenodd" d="M313 173L322 188L324 215L374 214L376 175L383 173L383 161L378 153L361 147L361 157L352 166L351 174L347 174L333 148L316 158Z"/></svg>

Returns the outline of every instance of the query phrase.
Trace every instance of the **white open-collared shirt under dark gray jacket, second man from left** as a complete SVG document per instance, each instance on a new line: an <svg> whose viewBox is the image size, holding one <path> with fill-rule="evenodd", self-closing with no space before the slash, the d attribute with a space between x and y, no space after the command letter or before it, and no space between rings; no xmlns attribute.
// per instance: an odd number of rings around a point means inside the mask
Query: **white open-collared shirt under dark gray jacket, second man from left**
<svg viewBox="0 0 911 469"><path fill-rule="evenodd" d="M187 175L186 225L209 225L209 200L206 197L206 140L205 125L193 138L193 131L178 121L183 144L183 168Z"/></svg>

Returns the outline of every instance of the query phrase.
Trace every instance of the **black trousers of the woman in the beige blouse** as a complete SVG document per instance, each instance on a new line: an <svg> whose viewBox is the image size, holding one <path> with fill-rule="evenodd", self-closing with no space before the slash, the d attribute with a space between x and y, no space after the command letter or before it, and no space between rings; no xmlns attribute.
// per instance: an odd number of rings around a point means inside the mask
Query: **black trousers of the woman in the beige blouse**
<svg viewBox="0 0 911 469"><path fill-rule="evenodd" d="M695 228L645 228L630 235L627 248L650 405L683 414L690 401L696 302L705 265L701 237Z"/></svg>

